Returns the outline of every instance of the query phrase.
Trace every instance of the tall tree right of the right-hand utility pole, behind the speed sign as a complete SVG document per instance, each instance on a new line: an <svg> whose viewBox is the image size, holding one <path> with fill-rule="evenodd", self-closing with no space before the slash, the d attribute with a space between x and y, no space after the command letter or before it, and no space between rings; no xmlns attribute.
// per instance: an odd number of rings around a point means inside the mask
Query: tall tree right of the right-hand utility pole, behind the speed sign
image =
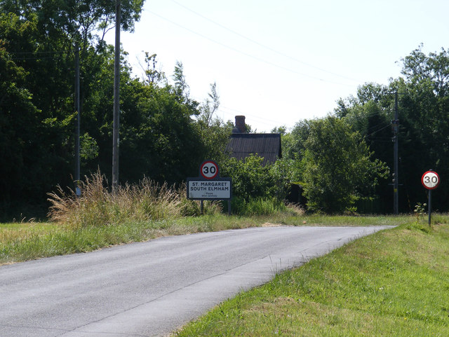
<svg viewBox="0 0 449 337"><path fill-rule="evenodd" d="M403 58L405 77L394 82L402 93L400 181L408 186L408 195L403 199L410 200L410 210L426 200L419 184L422 173L433 169L441 177L449 174L449 52L442 48L439 53L425 55L421 48ZM441 184L435 194L438 198L432 202L434 209L447 210L449 186Z"/></svg>

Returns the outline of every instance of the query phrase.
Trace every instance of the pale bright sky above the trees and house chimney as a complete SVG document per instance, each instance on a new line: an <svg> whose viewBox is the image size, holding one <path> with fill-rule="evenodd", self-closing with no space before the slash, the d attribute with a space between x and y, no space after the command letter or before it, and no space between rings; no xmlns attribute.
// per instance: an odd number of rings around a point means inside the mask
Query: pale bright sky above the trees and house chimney
<svg viewBox="0 0 449 337"><path fill-rule="evenodd" d="M448 13L447 0L146 0L121 44L135 76L144 51L169 81L182 62L192 99L216 83L216 117L270 132L327 116L364 83L387 85L421 43L447 49Z"/></svg>

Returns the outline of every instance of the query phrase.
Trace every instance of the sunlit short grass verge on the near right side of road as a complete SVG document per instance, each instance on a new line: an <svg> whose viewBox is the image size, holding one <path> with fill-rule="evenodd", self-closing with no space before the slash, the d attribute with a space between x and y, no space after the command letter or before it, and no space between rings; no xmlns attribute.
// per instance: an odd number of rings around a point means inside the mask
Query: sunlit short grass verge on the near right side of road
<svg viewBox="0 0 449 337"><path fill-rule="evenodd" d="M175 336L449 336L449 218L408 219L276 275Z"/></svg>

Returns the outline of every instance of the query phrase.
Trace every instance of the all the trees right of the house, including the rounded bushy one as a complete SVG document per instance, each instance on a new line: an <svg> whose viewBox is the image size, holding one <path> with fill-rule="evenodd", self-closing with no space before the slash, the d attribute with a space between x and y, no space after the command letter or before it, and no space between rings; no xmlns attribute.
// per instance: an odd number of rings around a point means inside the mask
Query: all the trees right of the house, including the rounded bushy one
<svg viewBox="0 0 449 337"><path fill-rule="evenodd" d="M388 85L361 85L355 96L338 100L330 116L299 121L283 136L284 156L302 160L300 184L310 209L393 212L391 123L398 92L399 212L427 202L421 176L430 169L442 180L432 193L432 208L447 212L449 53L442 48L425 55L420 46L402 63L402 77Z"/></svg>

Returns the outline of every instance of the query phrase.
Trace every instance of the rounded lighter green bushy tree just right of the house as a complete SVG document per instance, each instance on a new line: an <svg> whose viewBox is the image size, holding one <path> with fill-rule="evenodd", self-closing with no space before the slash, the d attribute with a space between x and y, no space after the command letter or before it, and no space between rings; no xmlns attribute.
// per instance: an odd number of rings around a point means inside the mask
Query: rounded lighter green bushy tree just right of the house
<svg viewBox="0 0 449 337"><path fill-rule="evenodd" d="M387 167L372 160L373 153L358 132L340 118L311 121L304 154L304 195L314 211L341 213L371 196Z"/></svg>

